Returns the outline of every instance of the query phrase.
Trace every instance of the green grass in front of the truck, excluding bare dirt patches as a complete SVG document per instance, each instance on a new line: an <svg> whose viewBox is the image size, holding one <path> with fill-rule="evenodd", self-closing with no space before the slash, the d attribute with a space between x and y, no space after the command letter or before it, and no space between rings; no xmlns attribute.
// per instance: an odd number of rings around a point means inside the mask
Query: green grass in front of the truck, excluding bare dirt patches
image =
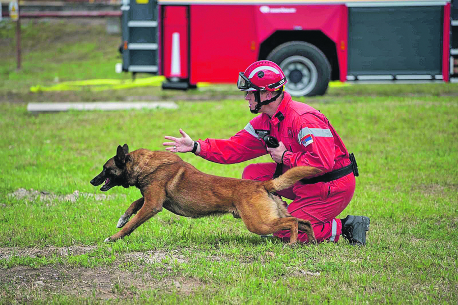
<svg viewBox="0 0 458 305"><path fill-rule="evenodd" d="M434 108L430 105L434 105ZM89 184L118 144L162 149L165 134L179 127L193 139L226 138L252 117L243 101L179 103L176 111L70 112L30 115L24 106L2 104L0 153L8 162L0 181L1 247L98 245L96 255L12 257L4 268L46 264L116 268L116 257L131 251L178 250L189 258L158 277L185 276L206 285L192 299L161 291L163 302L307 300L434 302L456 300L457 171L456 107L449 97L354 98L353 103L313 103L330 118L358 158L361 177L342 216L371 218L368 246L344 243L283 249L279 242L249 233L230 216L187 219L163 211L125 241L104 245L139 191L103 202L24 202L6 194L33 188L58 194L99 192ZM348 118L353 117L353 120ZM248 163L220 165L182 155L206 173L240 177ZM268 157L258 161L268 161ZM177 220L178 219L178 220ZM113 249L114 252L110 251ZM275 253L268 258L265 253ZM211 257L223 257L214 261ZM114 257L114 258L113 258ZM247 259L247 257L250 257ZM146 264L148 265L148 264ZM123 268L123 266L121 266ZM295 276L296 269L320 272ZM222 287L223 289L219 289ZM149 294L152 293L152 294ZM280 296L280 297L279 297Z"/></svg>

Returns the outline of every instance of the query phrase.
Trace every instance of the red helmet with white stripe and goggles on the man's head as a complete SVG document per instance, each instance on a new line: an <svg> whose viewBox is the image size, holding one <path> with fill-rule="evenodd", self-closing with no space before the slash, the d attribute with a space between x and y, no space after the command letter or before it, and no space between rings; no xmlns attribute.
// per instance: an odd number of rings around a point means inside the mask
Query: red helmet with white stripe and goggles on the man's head
<svg viewBox="0 0 458 305"><path fill-rule="evenodd" d="M260 60L239 73L237 88L242 91L275 91L288 81L275 62Z"/></svg>

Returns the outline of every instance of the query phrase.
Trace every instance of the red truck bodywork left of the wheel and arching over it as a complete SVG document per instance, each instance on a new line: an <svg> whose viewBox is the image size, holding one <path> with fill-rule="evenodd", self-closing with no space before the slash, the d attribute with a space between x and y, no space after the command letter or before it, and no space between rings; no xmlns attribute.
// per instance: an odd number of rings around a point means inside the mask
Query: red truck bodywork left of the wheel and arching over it
<svg viewBox="0 0 458 305"><path fill-rule="evenodd" d="M261 43L277 30L321 30L336 44L340 79L345 80L348 39L345 5L191 5L190 8L193 84L208 80L236 82L238 72L259 58Z"/></svg>

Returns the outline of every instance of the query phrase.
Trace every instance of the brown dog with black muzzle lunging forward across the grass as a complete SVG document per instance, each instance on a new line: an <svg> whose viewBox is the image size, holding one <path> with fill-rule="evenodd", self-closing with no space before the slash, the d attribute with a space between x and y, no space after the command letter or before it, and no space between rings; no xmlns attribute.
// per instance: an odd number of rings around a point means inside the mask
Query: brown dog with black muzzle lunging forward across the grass
<svg viewBox="0 0 458 305"><path fill-rule="evenodd" d="M274 192L319 173L318 168L298 166L277 179L263 182L217 177L198 171L176 154L147 149L129 153L124 144L118 146L116 156L103 165L102 173L91 184L97 186L105 181L101 191L113 186L135 186L142 194L119 219L117 227L125 225L124 228L105 242L124 238L165 208L192 218L233 213L256 234L291 230L289 245L294 245L298 228L306 232L310 242L316 242L310 222L292 217ZM135 217L129 221L133 214Z"/></svg>

